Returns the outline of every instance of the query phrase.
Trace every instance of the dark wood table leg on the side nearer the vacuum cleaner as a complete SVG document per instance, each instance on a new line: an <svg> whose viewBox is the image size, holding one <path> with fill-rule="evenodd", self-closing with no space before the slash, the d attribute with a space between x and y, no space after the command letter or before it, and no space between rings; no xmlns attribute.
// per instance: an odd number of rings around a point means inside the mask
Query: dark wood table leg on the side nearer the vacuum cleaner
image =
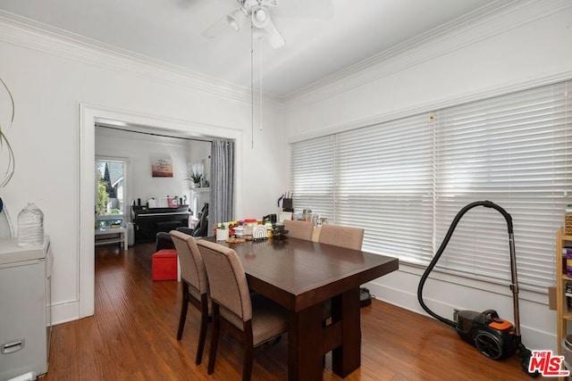
<svg viewBox="0 0 572 381"><path fill-rule="evenodd" d="M332 370L347 377L361 364L359 287L332 299L332 322L341 322L342 345L332 351Z"/></svg>

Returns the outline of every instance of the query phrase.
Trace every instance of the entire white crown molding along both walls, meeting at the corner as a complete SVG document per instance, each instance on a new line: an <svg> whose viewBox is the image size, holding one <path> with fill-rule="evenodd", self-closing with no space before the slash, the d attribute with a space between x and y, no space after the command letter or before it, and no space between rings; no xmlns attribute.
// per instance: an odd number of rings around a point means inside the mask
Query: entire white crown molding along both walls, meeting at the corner
<svg viewBox="0 0 572 381"><path fill-rule="evenodd" d="M569 7L572 7L569 0L499 0L290 95L264 94L263 107L272 112L291 112ZM10 12L0 11L0 41L107 70L128 70L141 78L189 87L246 104L252 102L250 88L109 46Z"/></svg>

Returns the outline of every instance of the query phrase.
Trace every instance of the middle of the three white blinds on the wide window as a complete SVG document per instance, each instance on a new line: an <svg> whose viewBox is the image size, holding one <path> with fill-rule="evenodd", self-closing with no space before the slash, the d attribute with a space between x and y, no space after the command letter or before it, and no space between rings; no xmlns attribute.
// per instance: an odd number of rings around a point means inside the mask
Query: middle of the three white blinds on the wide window
<svg viewBox="0 0 572 381"><path fill-rule="evenodd" d="M335 222L365 228L366 250L399 254L408 261L430 253L433 129L429 116L358 128L338 134L335 142Z"/></svg>

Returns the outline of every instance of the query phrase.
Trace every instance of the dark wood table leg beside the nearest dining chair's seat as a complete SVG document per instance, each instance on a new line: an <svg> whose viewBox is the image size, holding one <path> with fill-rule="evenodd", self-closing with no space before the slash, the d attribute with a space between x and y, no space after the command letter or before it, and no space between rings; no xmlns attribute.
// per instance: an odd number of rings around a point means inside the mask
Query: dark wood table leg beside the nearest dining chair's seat
<svg viewBox="0 0 572 381"><path fill-rule="evenodd" d="M288 379L313 381L323 377L324 335L322 303L299 312L290 311Z"/></svg>

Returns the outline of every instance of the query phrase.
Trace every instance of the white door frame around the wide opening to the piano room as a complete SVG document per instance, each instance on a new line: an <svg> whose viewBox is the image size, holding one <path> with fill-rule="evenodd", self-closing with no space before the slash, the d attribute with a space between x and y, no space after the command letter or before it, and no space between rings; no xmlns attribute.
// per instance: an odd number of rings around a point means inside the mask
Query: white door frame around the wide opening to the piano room
<svg viewBox="0 0 572 381"><path fill-rule="evenodd" d="M241 186L240 168L242 168L242 131L240 129L225 128L222 126L207 125L205 123L172 120L166 117L146 115L137 112L126 112L91 104L79 104L79 216L78 227L78 273L79 273L79 317L85 318L94 314L95 306L95 248L94 248L94 197L96 166L96 121L114 120L128 126L138 126L139 130L156 133L163 131L165 135L178 135L181 137L220 137L235 141L234 164L234 204L240 205ZM122 128L121 125L117 128ZM237 208L239 210L240 208Z"/></svg>

